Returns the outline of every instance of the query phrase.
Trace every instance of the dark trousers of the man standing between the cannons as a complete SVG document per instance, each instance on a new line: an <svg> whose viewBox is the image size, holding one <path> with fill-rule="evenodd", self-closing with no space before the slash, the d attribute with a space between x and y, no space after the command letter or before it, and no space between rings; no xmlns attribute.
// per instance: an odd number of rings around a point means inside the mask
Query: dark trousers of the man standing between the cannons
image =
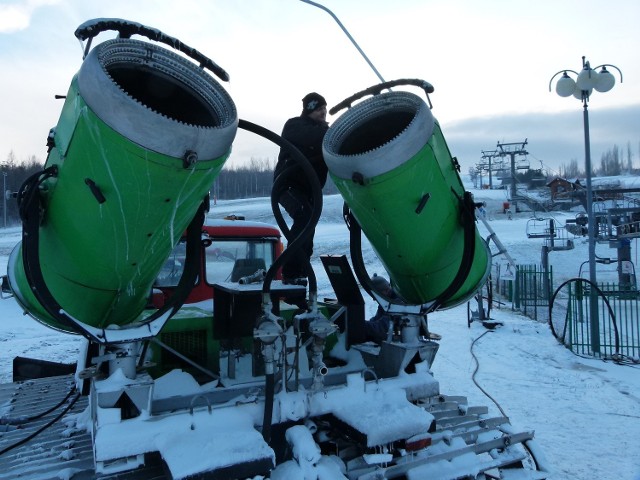
<svg viewBox="0 0 640 480"><path fill-rule="evenodd" d="M285 211L293 220L291 225L289 243L295 240L302 233L304 227L309 223L311 218L311 201L309 196L299 190L290 188L285 190L278 200ZM282 267L282 276L285 278L300 278L307 276L307 265L313 253L313 235L303 242L302 248L297 250L293 256Z"/></svg>

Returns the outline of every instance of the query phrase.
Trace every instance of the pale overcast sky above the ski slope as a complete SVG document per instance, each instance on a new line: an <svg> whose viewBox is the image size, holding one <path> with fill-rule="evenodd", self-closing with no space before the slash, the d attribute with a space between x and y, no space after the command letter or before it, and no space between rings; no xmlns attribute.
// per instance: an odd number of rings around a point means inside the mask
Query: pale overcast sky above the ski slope
<svg viewBox="0 0 640 480"><path fill-rule="evenodd" d="M580 101L549 92L562 69L622 70L589 103L592 161L630 144L640 167L637 0L323 0L385 80L432 83L433 113L463 172L496 143L528 139L532 166L584 165ZM300 0L0 0L0 161L44 161L49 129L82 61L73 32L117 17L155 27L229 72L240 118L280 133L310 91L329 106L378 83L338 24ZM94 44L110 38L104 33ZM420 94L417 90L412 90ZM329 116L329 121L334 117ZM240 133L231 164L277 148Z"/></svg>

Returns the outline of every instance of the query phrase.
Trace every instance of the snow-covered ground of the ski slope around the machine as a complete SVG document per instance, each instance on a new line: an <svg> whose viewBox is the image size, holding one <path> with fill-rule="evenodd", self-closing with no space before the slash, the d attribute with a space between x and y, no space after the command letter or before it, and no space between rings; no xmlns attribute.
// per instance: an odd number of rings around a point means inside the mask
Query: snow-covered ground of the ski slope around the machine
<svg viewBox="0 0 640 480"><path fill-rule="evenodd" d="M516 263L539 264L543 240L526 236L532 214L517 213L509 218L502 213L504 191L476 190L474 194L476 200L487 202L489 224ZM229 213L274 223L267 199L219 201L210 215ZM342 199L325 197L314 252L319 298L332 292L317 256L348 253L348 233L341 213ZM553 215L564 225L575 213ZM488 232L482 225L480 230L486 237ZM19 228L0 230L3 271L19 240ZM587 259L586 239L574 241L574 250L550 255L556 285L578 276ZM636 264L637 247L634 241L632 259ZM598 246L598 255L615 256L615 251L607 250ZM384 273L366 245L364 258L370 273ZM505 260L498 257L495 261ZM615 280L612 270L609 266L607 271L599 271L599 279L611 276ZM368 309L373 312L375 305L369 304ZM490 331L476 322L468 328L466 305L430 315L431 330L442 335L433 365L441 392L467 396L470 404L487 405L493 414L503 411L516 428L535 430L553 469L552 479L640 480L640 367L575 356L557 343L547 324L520 315L511 305L493 310L492 318L503 321L504 326ZM0 302L0 382L11 381L15 356L73 361L78 347L77 337L23 316L13 300Z"/></svg>

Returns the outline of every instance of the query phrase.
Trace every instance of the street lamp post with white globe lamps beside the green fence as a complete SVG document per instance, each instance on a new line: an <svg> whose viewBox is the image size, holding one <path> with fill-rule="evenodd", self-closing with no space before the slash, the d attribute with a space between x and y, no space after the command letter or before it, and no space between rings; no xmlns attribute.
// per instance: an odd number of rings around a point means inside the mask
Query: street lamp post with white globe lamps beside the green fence
<svg viewBox="0 0 640 480"><path fill-rule="evenodd" d="M595 89L598 92L608 92L616 83L615 77L607 70L607 67L615 68L620 74L620 83L622 83L622 72L618 67L611 64L602 64L592 68L585 57L582 57L582 70L580 73L574 70L560 70L551 80L549 80L549 91L553 79L562 74L562 77L556 82L556 93L561 97L574 96L582 101L583 122L584 122L584 165L586 169L587 180L587 241L589 245L589 281L593 286L596 285L596 222L593 215L593 188L591 183L591 141L589 138L589 110L587 105L589 97ZM600 68L599 72L596 69ZM570 72L576 76L574 80L569 76ZM600 326L598 323L598 296L593 288L590 288L590 327L591 327L591 349L594 353L600 352Z"/></svg>

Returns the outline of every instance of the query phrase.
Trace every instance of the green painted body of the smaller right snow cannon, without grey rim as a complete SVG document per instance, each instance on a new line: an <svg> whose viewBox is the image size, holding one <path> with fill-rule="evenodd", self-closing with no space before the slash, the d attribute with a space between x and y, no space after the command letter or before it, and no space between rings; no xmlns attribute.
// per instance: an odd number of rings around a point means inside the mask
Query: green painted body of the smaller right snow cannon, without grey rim
<svg viewBox="0 0 640 480"><path fill-rule="evenodd" d="M393 141L401 140L397 137ZM330 166L331 177L395 289L408 302L427 303L447 289L461 263L465 245L460 199L464 187L435 121L428 141L415 155L404 162L390 159L385 165L391 163L397 166L383 168L387 171L378 175L365 175L360 182L334 173ZM471 271L443 307L472 296L486 280L489 266L490 252L475 229Z"/></svg>

